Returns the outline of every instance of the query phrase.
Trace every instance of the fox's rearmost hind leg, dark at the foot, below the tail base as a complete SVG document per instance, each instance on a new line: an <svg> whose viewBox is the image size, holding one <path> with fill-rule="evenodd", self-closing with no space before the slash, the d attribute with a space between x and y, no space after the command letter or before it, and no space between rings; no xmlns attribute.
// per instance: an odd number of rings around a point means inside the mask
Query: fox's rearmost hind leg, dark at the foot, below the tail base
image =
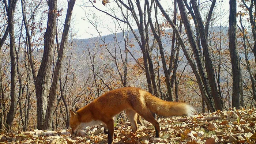
<svg viewBox="0 0 256 144"><path fill-rule="evenodd" d="M142 116L146 121L153 124L153 126L155 127L155 137L159 137L160 125L157 122L157 120L155 120L155 118L151 114L150 110L148 110L147 108L146 109L141 109L141 110L137 111L137 113L140 116Z"/></svg>

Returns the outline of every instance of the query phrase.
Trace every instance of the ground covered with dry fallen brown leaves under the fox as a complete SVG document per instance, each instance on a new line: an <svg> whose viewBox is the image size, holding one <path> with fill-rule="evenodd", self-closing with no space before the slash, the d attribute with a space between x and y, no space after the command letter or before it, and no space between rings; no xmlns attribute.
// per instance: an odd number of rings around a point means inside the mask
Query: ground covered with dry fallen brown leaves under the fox
<svg viewBox="0 0 256 144"><path fill-rule="evenodd" d="M136 134L131 124L122 121L115 125L114 143L127 144L255 144L256 109L216 111L192 117L159 118L160 138L154 137L155 129L148 123L139 125ZM102 126L81 130L71 139L70 129L59 131L34 130L33 132L0 133L0 144L106 144L107 134Z"/></svg>

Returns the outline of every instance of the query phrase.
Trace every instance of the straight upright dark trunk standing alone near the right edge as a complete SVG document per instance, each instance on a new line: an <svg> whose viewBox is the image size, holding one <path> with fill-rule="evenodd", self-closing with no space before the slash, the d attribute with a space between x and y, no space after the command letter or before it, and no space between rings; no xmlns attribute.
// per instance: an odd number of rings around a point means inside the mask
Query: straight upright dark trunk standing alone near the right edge
<svg viewBox="0 0 256 144"><path fill-rule="evenodd" d="M240 109L242 101L242 77L236 41L236 0L229 0L229 52L232 65L232 106Z"/></svg>

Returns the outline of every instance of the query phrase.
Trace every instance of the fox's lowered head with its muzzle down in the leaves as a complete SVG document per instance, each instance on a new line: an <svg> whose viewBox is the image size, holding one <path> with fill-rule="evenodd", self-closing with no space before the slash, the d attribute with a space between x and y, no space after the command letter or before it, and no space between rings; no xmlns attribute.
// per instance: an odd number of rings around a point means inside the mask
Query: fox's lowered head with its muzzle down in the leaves
<svg viewBox="0 0 256 144"><path fill-rule="evenodd" d="M79 131L83 128L79 115L74 110L69 110L70 112L70 121L69 125L71 127L71 137L75 137Z"/></svg>

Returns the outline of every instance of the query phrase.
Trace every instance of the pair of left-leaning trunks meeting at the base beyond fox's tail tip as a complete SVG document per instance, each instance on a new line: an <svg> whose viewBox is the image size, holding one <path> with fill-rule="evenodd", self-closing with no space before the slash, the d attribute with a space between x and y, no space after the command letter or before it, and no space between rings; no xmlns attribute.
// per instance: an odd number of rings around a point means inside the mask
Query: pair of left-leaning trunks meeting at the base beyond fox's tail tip
<svg viewBox="0 0 256 144"><path fill-rule="evenodd" d="M180 35L178 29L176 28L176 26L174 25L173 21L170 19L169 15L165 12L165 10L163 10L163 7L159 3L159 1L155 0L155 2L157 4L157 6L159 7L159 9L161 10L162 14L165 16L167 22L172 26L173 31L176 33L178 42L180 43L181 48L189 62L189 65L191 66L193 73L196 76L197 83L199 85L199 89L202 93L203 99L206 101L206 105L207 105L208 109L210 111L215 111L216 109L215 109L213 97L211 95L211 88L210 88L208 79L206 78L206 72L203 68L202 54L199 52L197 43L195 42L195 38L193 36L190 23L188 21L188 16L185 11L184 3L182 1L177 1L178 6L180 8L180 13L181 13L181 17L182 17L185 29L187 30L187 35L189 37L189 43L191 44L193 54L196 58L197 67L196 67L195 62L192 60L191 54L187 50L187 48L185 46L185 42L181 38L181 35Z"/></svg>

